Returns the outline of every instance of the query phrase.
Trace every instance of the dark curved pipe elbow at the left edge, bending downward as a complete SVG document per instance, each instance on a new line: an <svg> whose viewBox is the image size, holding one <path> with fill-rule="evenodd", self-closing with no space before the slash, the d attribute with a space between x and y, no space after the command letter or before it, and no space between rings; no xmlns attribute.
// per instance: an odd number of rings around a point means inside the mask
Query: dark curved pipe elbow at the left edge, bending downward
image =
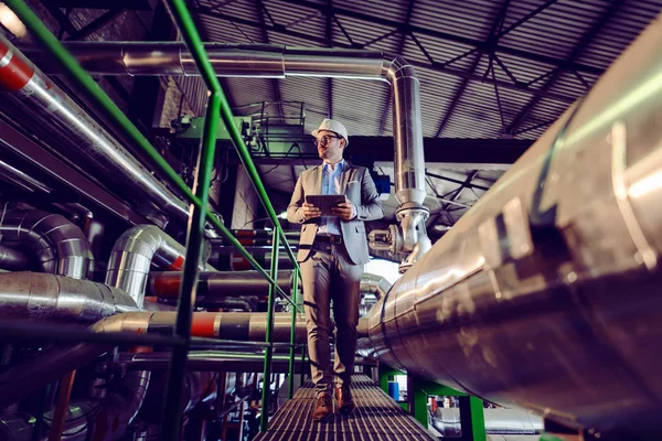
<svg viewBox="0 0 662 441"><path fill-rule="evenodd" d="M0 223L4 245L24 248L43 272L74 279L92 273L94 257L85 234L64 216L39 209L11 211Z"/></svg>

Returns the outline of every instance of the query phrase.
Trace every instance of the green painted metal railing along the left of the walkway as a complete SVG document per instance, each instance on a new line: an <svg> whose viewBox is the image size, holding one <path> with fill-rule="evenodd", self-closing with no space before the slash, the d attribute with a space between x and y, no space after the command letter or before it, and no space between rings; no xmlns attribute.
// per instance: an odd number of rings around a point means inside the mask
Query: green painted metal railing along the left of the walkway
<svg viewBox="0 0 662 441"><path fill-rule="evenodd" d="M13 10L19 19L25 24L28 30L34 35L36 41L53 54L54 60L63 69L73 84L76 85L75 90L79 94L85 103L90 105L95 111L99 114L105 123L110 126L116 133L122 139L128 139L135 147L142 150L152 161L154 168L159 169L170 180L170 182L181 192L181 194L191 203L192 215L186 236L186 260L184 262L184 273L178 304L178 316L175 324L175 336L182 337L185 341L184 345L173 347L172 361L170 366L170 375L168 380L168 391L166 399L166 410L163 418L162 435L164 440L178 440L181 430L181 411L180 401L183 389L185 375L186 357L189 352L189 343L191 340L191 314L192 314L192 293L197 280L197 266L200 260L204 228L209 222L217 232L223 234L227 239L239 250L239 252L250 262L250 265L263 275L270 283L268 311L267 311L267 338L266 338L266 357L264 372L264 395L263 395L263 421L261 430L267 429L268 409L269 409L269 377L273 358L271 332L274 329L274 297L279 293L292 305L292 323L296 320L296 313L301 312L299 305L282 291L276 281L278 269L279 238L282 239L285 249L295 267L295 280L299 273L299 266L295 254L287 243L285 232L280 227L278 216L274 211L265 186L259 178L258 171L253 163L250 153L244 143L238 128L233 123L233 115L227 103L227 98L223 93L221 83L216 77L214 68L210 62L209 55L204 49L200 34L197 33L193 19L186 9L183 0L168 0L166 2L174 23L179 28L184 37L184 42L189 51L195 60L195 64L202 78L210 90L207 112L205 116L205 127L202 139L202 148L199 157L197 176L193 185L193 191L189 189L185 182L179 174L168 164L168 162L159 154L154 147L140 133L136 126L127 118L127 116L115 105L115 103L106 95L89 74L81 67L76 58L61 44L61 42L51 33L45 24L36 17L36 14L25 4L23 0L6 0L6 3ZM271 255L270 273L261 268L261 266L250 256L242 244L232 235L232 233L221 223L217 216L207 208L210 178L214 165L216 131L218 129L218 120L222 119L225 127L229 131L231 139L237 150L239 158L250 178L260 202L263 203L271 223L274 224L274 250ZM293 297L297 298L298 286L293 286ZM290 341L290 378L293 375L293 330Z"/></svg>

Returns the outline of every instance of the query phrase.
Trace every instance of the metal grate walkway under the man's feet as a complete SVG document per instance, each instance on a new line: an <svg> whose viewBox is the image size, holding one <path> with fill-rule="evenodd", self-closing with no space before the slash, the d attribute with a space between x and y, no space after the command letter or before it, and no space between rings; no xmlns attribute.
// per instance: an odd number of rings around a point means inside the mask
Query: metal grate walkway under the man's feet
<svg viewBox="0 0 662 441"><path fill-rule="evenodd" d="M334 413L327 422L313 422L310 413L316 394L308 381L278 409L269 421L269 430L255 441L437 441L367 376L352 378L352 395L356 404L352 415Z"/></svg>

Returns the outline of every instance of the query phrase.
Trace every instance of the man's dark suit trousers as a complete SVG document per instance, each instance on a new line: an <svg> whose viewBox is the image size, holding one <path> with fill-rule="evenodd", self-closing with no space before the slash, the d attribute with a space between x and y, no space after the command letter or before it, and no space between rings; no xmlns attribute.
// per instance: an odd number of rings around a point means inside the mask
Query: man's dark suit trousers
<svg viewBox="0 0 662 441"><path fill-rule="evenodd" d="M349 387L356 352L363 265L352 262L344 244L313 244L308 259L300 267L312 383L318 392L330 392L333 383L335 387ZM329 341L332 332L331 301L335 322L333 370Z"/></svg>

